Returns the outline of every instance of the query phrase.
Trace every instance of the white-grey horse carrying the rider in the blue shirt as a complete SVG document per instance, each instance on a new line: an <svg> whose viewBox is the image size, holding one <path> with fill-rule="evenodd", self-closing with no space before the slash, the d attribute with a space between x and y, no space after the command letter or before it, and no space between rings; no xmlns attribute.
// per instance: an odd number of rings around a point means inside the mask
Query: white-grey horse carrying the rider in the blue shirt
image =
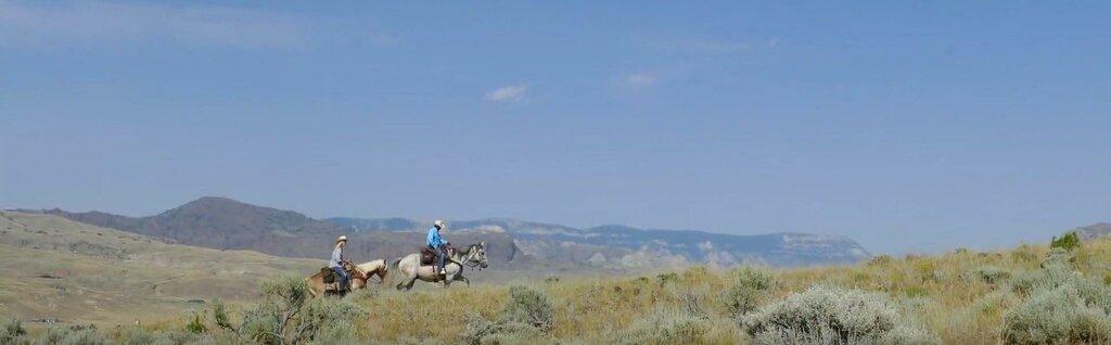
<svg viewBox="0 0 1111 345"><path fill-rule="evenodd" d="M468 267L486 268L489 266L486 257L486 242L471 244L464 250L453 251L444 264L443 270L448 272L440 275L436 272L436 265L421 265L420 253L412 253L398 258L389 271L394 272L400 277L398 290L413 288L417 280L429 283L443 282L443 287L451 285L451 282L460 281L471 285L471 281L463 276L463 265Z"/></svg>

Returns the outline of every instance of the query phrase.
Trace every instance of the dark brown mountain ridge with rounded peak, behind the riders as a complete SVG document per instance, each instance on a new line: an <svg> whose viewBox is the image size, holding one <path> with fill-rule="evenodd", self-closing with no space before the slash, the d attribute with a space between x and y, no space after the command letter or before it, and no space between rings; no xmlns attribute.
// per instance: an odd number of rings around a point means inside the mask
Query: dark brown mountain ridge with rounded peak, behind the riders
<svg viewBox="0 0 1111 345"><path fill-rule="evenodd" d="M348 235L348 254L363 260L397 257L414 252L424 242L416 233L356 233L342 224L303 214L257 206L227 197L204 196L152 216L129 217L103 212L46 210L97 226L167 239L174 243L218 250L251 250L287 257L328 257L339 235ZM457 243L487 242L491 260L513 261L512 239L500 234L468 234ZM503 255L496 255L501 253Z"/></svg>

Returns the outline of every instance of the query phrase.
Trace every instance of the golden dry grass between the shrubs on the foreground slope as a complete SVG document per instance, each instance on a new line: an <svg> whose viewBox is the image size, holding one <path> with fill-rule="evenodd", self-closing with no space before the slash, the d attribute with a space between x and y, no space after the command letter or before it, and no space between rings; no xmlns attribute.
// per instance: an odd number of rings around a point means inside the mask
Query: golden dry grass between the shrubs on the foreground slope
<svg viewBox="0 0 1111 345"><path fill-rule="evenodd" d="M878 256L854 266L779 270L774 271L778 284L764 304L815 284L882 292L904 316L945 344L997 344L1002 342L1003 313L1022 297L1010 292L1005 278L989 283L974 271L993 266L1021 275L1038 270L1048 252L1047 246L1022 245L999 252L957 250L930 256ZM1111 242L1084 243L1075 257L1079 271L1102 280L1111 263ZM714 325L732 327L715 326L717 334L709 342L744 343L745 335L728 315L722 300L738 270L743 267L697 266L673 275L562 278L528 285L551 297L556 324L550 335L554 338L605 342L654 310L684 310L694 304ZM509 286L413 293L383 288L359 301L370 312L364 336L383 342L459 342L467 316L496 317L508 291Z"/></svg>

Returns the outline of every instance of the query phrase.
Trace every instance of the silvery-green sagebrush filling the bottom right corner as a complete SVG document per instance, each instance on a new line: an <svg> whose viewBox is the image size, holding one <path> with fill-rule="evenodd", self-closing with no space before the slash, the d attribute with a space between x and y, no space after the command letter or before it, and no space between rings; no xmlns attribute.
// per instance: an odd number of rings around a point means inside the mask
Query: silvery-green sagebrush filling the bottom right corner
<svg viewBox="0 0 1111 345"><path fill-rule="evenodd" d="M1082 288L1081 288L1082 290ZM1111 342L1111 317L1093 304L1092 292L1067 284L1041 290L1003 315L1008 344ZM1087 296L1085 296L1087 295Z"/></svg>

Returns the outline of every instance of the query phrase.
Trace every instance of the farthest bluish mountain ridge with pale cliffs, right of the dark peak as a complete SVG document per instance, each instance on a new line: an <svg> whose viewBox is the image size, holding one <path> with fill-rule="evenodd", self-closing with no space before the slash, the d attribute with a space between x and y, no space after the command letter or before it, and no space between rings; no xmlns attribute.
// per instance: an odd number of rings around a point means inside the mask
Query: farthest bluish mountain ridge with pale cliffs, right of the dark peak
<svg viewBox="0 0 1111 345"><path fill-rule="evenodd" d="M404 219L326 219L358 232L421 231L429 223ZM506 233L524 254L580 264L647 264L640 256L668 262L740 263L778 266L855 263L871 255L844 236L805 233L732 235L695 230L645 230L624 225L574 229L509 219L449 222L459 232ZM639 262L638 262L639 261Z"/></svg>

